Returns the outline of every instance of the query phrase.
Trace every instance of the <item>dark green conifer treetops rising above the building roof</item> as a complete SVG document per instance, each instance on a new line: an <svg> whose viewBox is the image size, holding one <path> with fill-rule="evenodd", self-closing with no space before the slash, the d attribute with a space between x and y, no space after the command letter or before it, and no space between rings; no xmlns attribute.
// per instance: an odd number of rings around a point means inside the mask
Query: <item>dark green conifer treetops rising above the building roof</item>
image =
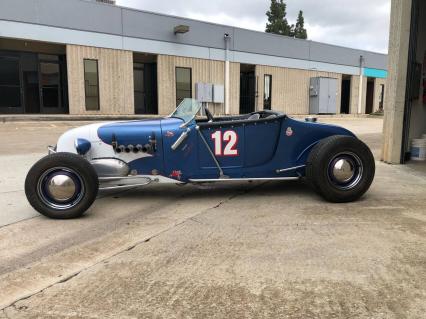
<svg viewBox="0 0 426 319"><path fill-rule="evenodd" d="M299 39L308 38L303 11L299 11L296 25L290 25L287 20L287 4L284 0L271 0L271 6L266 12L266 16L268 17L266 32Z"/></svg>

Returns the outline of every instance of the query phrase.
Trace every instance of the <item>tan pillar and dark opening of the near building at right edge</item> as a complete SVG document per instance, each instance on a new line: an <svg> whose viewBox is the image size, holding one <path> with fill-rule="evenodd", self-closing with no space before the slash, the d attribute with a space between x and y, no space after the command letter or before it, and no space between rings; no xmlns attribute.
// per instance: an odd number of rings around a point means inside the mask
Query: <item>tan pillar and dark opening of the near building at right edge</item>
<svg viewBox="0 0 426 319"><path fill-rule="evenodd" d="M425 1L392 0L386 92L383 160L405 163L426 134Z"/></svg>

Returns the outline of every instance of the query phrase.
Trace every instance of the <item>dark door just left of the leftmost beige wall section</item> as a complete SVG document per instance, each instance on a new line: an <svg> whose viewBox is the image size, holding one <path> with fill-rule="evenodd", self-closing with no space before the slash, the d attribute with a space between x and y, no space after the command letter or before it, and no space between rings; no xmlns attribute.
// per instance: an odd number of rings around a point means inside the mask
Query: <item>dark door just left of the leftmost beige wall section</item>
<svg viewBox="0 0 426 319"><path fill-rule="evenodd" d="M59 62L40 62L40 109L41 113L61 113L61 68Z"/></svg>

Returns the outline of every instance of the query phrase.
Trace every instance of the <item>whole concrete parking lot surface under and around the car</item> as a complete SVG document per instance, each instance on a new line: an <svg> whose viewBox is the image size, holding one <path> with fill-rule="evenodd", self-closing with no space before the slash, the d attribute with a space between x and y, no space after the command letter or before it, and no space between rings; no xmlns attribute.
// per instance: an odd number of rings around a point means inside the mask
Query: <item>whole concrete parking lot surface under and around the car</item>
<svg viewBox="0 0 426 319"><path fill-rule="evenodd" d="M380 156L381 119L321 119ZM377 162L371 190L154 185L84 218L37 215L26 171L81 123L0 125L0 318L424 318L426 174Z"/></svg>

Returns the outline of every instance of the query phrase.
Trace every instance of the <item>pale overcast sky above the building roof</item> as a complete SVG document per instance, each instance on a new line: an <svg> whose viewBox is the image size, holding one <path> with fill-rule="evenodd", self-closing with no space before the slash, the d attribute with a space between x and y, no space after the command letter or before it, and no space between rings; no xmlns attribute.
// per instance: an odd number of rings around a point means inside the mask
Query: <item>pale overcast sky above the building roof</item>
<svg viewBox="0 0 426 319"><path fill-rule="evenodd" d="M287 0L295 23L304 11L310 40L387 53L390 0ZM270 0L117 0L117 4L265 31Z"/></svg>

